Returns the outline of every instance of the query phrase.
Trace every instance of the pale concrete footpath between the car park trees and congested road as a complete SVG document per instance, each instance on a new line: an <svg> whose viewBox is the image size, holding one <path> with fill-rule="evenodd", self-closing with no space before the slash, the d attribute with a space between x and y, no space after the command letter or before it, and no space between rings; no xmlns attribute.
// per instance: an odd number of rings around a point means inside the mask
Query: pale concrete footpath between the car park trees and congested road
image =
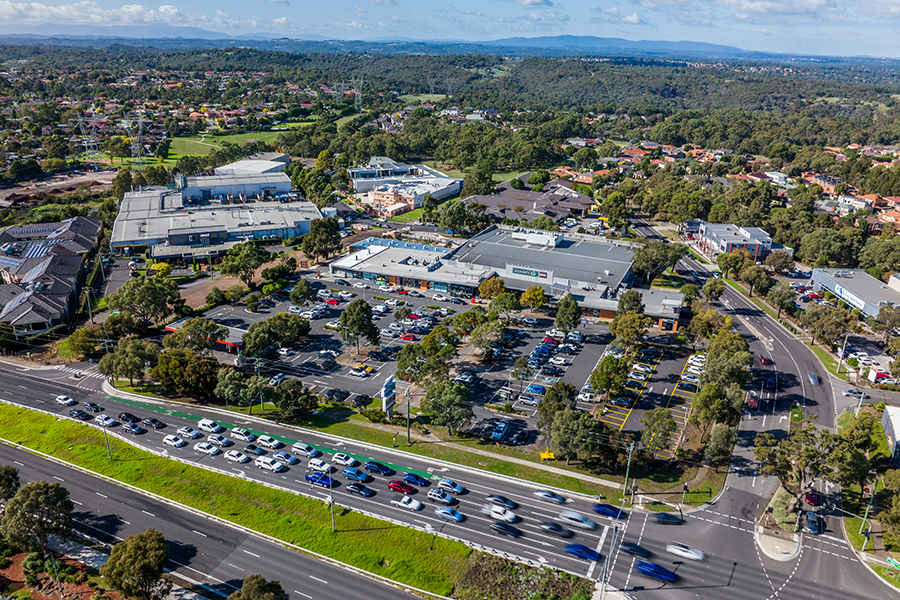
<svg viewBox="0 0 900 600"><path fill-rule="evenodd" d="M142 396L141 394L132 394L130 392L123 392L123 391L117 390L116 388L112 387L112 385L110 385L108 381L103 382L103 391L105 393L109 394L110 396L119 396L121 398L126 398L128 400L136 400L139 402L148 402L151 404L177 404L177 403L174 403L169 400L161 400L159 398L152 398L150 396ZM260 417L257 417L256 415L239 414L239 413L235 413L235 412L232 412L229 410L212 407L212 406L204 406L203 410L215 412L220 415L227 416L229 418L234 418L236 416L240 416L241 418L255 421L260 427L272 423L272 421L270 421L268 419L262 419ZM389 425L382 425L379 423L354 421L354 424L361 425L363 427L369 427L370 429L378 429L380 431L385 431L387 433L405 433L405 431L403 431L403 428L392 427ZM287 423L279 422L278 425L280 425L282 427L288 427L290 429L296 429L298 431L302 431L302 428L295 427L295 426L289 425ZM313 430L313 433L321 433L323 435L328 435L331 437L338 437L338 436L334 436L333 434L330 434L327 432L319 432L319 431ZM506 456L504 454L497 454L495 452L490 452L488 450L481 450L480 448L470 448L468 446L463 446L461 444L456 444L454 442L442 442L440 440L440 438L438 438L437 436L433 436L433 435L423 436L420 434L411 434L411 436L416 438L416 440L421 441L422 443L440 444L441 446L444 446L447 448L454 448L456 450L461 450L463 452L469 452L471 454L476 454L478 456L484 456L486 458L492 458L494 460L505 461L505 462L521 465L523 467L531 467L534 469L540 469L541 471L545 471L547 473L553 473L555 475L563 475L566 477L572 477L575 479L580 479L581 481L593 483L595 485L601 485L601 486L613 488L616 490L621 490L624 487L621 483L617 483L615 481L610 481L608 479L602 479L600 477L593 477L591 475L584 475L582 473L575 473L573 471L567 471L566 469L560 469L559 467L554 467L552 465L548 465L545 463L536 463L536 462L532 462L530 460L525 460L523 458L515 458L512 456ZM358 440L358 441L361 441L361 440ZM372 444L372 445L375 446L377 444ZM388 448L387 446L380 446L380 447L384 448L386 450L390 450L390 448ZM427 458L427 457L425 457L425 458ZM462 466L464 466L464 465L462 465Z"/></svg>

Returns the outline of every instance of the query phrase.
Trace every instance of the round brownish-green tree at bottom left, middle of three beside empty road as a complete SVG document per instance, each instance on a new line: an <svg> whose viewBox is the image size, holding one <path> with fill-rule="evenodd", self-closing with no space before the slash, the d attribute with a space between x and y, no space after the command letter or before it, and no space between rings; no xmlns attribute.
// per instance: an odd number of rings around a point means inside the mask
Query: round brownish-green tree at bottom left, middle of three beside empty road
<svg viewBox="0 0 900 600"><path fill-rule="evenodd" d="M172 589L172 583L164 577L168 563L166 538L148 529L116 544L100 567L100 574L113 589L129 598L162 600Z"/></svg>

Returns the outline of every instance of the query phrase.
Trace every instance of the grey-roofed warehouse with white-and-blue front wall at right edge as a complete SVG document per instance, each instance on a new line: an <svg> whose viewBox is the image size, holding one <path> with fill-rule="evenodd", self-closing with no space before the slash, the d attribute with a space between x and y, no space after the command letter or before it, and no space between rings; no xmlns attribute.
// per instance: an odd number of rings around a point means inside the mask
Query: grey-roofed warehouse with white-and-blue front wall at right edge
<svg viewBox="0 0 900 600"><path fill-rule="evenodd" d="M813 269L810 286L831 292L866 318L878 316L882 306L900 306L900 279L896 275L885 284L862 269Z"/></svg>

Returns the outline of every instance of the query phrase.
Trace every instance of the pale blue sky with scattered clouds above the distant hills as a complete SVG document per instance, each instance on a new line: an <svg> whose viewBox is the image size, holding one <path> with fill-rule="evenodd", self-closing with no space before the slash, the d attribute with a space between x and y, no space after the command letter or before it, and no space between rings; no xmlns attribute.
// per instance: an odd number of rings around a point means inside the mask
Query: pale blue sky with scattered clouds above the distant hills
<svg viewBox="0 0 900 600"><path fill-rule="evenodd" d="M6 33L108 26L227 35L485 41L594 35L746 50L900 57L900 0L0 0ZM135 31L138 31L136 28ZM192 36L185 36L192 37Z"/></svg>

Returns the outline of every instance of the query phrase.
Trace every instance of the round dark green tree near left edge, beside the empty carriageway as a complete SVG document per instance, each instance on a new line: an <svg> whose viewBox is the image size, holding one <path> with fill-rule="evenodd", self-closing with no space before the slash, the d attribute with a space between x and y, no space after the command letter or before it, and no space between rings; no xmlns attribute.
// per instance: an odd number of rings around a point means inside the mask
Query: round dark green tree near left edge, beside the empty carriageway
<svg viewBox="0 0 900 600"><path fill-rule="evenodd" d="M22 548L37 543L46 554L51 537L64 538L72 531L73 509L69 490L58 483L32 481L6 502L0 531Z"/></svg>

